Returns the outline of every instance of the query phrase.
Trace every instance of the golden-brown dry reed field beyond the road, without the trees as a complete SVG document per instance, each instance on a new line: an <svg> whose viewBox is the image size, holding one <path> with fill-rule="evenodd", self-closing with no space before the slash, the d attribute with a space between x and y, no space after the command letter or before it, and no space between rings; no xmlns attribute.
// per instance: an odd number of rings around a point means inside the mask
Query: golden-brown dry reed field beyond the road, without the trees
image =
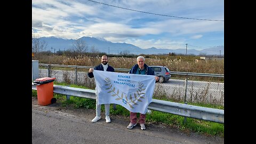
<svg viewBox="0 0 256 144"><path fill-rule="evenodd" d="M183 56L184 58L185 56ZM188 56L189 57L189 56ZM189 73L224 74L224 61L199 61L195 63L195 57L176 58L169 55L160 55L155 58L146 58L147 65L166 66L171 71L181 71ZM90 57L88 55L78 55L77 57L67 57L62 55L35 55L33 60L39 63L49 63L58 65L96 66L101 63L99 56ZM109 65L114 68L130 69L136 63L136 58L110 57Z"/></svg>

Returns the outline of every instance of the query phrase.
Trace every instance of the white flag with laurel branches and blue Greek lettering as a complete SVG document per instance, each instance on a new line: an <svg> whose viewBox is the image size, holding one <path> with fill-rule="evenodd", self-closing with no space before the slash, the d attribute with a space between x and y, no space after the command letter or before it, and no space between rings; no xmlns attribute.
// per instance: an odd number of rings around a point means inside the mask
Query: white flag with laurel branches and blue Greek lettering
<svg viewBox="0 0 256 144"><path fill-rule="evenodd" d="M155 76L93 70L98 105L116 103L146 114L155 89Z"/></svg>

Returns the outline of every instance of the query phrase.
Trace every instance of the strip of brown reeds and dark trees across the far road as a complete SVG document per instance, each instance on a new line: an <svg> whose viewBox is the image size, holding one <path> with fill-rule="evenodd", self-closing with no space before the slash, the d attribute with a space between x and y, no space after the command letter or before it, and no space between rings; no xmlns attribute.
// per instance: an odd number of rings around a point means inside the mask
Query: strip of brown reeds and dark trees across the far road
<svg viewBox="0 0 256 144"><path fill-rule="evenodd" d="M74 65L74 66L96 66L101 62L101 55L106 53L77 53L77 52L37 52L33 60L39 63L57 64L57 65ZM205 73L205 74L224 74L224 60L201 60L200 56L195 55L175 55L175 54L140 54L146 58L145 63L148 66L166 66L170 71L188 72L188 73ZM114 68L130 69L139 55L109 55L109 65ZM45 68L45 67L40 67ZM63 69L63 68L52 68ZM67 69L67 68L66 68ZM70 68L69 68L70 69ZM68 69L67 69L68 70ZM83 69L77 69L83 71ZM172 75L172 79L185 79L184 75ZM218 77L197 77L189 76L193 81L211 81L224 82L224 78Z"/></svg>

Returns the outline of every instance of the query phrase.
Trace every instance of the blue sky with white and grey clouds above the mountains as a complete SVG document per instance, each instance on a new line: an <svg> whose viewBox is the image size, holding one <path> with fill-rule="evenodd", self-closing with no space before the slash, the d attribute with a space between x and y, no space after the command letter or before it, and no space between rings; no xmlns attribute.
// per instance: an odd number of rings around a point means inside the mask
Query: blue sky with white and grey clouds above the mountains
<svg viewBox="0 0 256 144"><path fill-rule="evenodd" d="M142 49L224 45L223 0L34 0L38 37L102 37Z"/></svg>

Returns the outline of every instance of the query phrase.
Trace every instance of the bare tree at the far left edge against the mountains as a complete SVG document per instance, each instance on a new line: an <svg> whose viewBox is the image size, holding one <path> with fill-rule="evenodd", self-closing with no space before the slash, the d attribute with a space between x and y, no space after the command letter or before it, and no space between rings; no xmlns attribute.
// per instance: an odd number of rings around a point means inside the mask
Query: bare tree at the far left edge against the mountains
<svg viewBox="0 0 256 144"><path fill-rule="evenodd" d="M36 33L32 33L32 52L37 53L46 50L47 43L39 39Z"/></svg>

